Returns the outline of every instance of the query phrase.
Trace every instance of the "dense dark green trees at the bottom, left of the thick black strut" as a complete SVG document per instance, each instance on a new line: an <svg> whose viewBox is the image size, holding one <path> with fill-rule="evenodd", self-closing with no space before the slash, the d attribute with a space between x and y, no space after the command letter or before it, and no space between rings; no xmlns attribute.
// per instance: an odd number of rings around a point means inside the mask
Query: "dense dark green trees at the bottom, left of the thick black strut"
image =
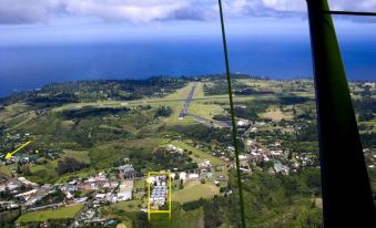
<svg viewBox="0 0 376 228"><path fill-rule="evenodd" d="M321 209L314 206L312 199L317 191L311 189L319 185L318 169L307 172L292 177L263 173L247 175L243 182L247 226L319 227ZM233 194L225 198L214 198L204 205L205 227L240 222L238 196L233 175L230 180Z"/></svg>

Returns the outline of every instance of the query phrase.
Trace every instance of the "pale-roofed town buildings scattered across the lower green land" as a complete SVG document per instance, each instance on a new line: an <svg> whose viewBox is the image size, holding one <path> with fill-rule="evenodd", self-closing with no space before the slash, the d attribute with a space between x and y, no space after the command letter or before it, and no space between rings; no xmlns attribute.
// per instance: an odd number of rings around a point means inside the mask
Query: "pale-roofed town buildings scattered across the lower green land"
<svg viewBox="0 0 376 228"><path fill-rule="evenodd" d="M266 126L272 123L256 122L250 124L248 121L238 121L237 127L240 132L257 133L257 127ZM287 126L292 128L293 126ZM283 134L283 133L282 133ZM29 136L29 135L26 135ZM19 136L17 136L19 138ZM271 144L257 143L254 139L243 139L245 152L238 156L241 170L247 174L256 169L265 169L270 174L289 175L297 173L303 167L317 167L317 154L303 153L294 154L284 147L281 142L274 141ZM200 148L201 145L196 145ZM183 148L169 144L165 148L171 154L184 153ZM369 156L365 149L365 155L373 162L369 168L376 168L376 155ZM212 155L223 160L223 164L213 166L211 159L205 159L197 163L197 168L190 170L176 172L177 168L171 168L171 177L176 183L184 183L189 180L212 182L216 186L225 187L227 176L216 175L215 170L221 168L234 167L234 160L231 156L234 153L233 146L227 146L223 151L216 149ZM51 157L57 153L51 153ZM1 162L1 165L9 165L13 163L32 163L30 157L13 156L9 160ZM130 201L135 197L148 200L148 191L145 187L135 187L134 182L142 183L145 186L146 177L138 173L133 166L132 160L128 157L123 158L123 165L115 167L118 174L113 178L113 173L99 173L96 176L88 178L73 178L64 184L44 184L39 186L35 183L28 180L26 177L17 176L9 178L3 175L0 176L0 194L11 200L0 201L0 211L17 210L22 211L38 211L49 208L59 207L80 207L80 213L75 216L70 227L82 227L88 224L92 225L113 225L118 221L113 218L105 218L101 216L99 210L103 205L111 205L121 201ZM318 168L318 167L317 167ZM152 176L149 180L151 184L151 209L159 210L165 208L167 203L167 176ZM231 194L232 190L223 191L222 195ZM141 206L141 205L139 205ZM142 205L140 211L148 211L148 207Z"/></svg>

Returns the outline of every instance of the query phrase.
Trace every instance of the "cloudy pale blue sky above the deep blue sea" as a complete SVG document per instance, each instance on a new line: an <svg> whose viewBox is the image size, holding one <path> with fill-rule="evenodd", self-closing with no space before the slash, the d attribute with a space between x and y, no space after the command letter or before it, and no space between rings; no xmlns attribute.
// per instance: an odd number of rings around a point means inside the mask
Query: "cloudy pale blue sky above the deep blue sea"
<svg viewBox="0 0 376 228"><path fill-rule="evenodd" d="M376 11L376 0L329 0ZM306 37L305 0L223 0L228 35ZM339 33L376 33L375 19L335 17ZM191 39L220 34L216 0L0 0L0 45Z"/></svg>

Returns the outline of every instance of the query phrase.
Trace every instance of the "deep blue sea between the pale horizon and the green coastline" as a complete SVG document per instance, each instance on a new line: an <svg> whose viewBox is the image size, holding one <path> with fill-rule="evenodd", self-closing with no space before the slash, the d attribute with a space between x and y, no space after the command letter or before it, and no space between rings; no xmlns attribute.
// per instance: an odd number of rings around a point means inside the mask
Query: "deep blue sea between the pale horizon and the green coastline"
<svg viewBox="0 0 376 228"><path fill-rule="evenodd" d="M350 80L376 80L376 43L356 39L341 43ZM271 79L307 77L312 73L308 39L228 40L231 71ZM144 79L223 73L220 39L128 41L0 48L0 96L51 82L88 79Z"/></svg>

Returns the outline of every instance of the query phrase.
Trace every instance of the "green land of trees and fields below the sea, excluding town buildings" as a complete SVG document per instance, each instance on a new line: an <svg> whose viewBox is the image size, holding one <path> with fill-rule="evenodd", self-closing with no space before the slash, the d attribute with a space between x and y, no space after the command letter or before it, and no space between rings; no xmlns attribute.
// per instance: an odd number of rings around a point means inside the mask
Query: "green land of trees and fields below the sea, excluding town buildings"
<svg viewBox="0 0 376 228"><path fill-rule="evenodd" d="M189 115L179 120L194 83L196 90ZM376 149L375 90L364 83L352 83L350 89L367 165L372 165ZM319 227L322 205L313 82L238 75L234 77L234 94L236 121L246 122L237 131L240 152L246 155L242 166L250 167L242 174L247 226ZM98 208L91 208L95 217L114 218L134 228L237 227L241 219L233 170L235 155L231 131L223 124L228 121L227 84L219 75L196 80L153 77L51 84L41 91L0 100L1 149L11 151L19 143L33 142L17 154L18 162L8 164L1 158L0 173L53 185L74 178L82 183L102 172L109 180L120 183L118 167L129 163L141 175L134 179L133 199L101 203ZM180 149L171 149L170 144ZM252 152L260 149L268 160L253 157ZM271 155L272 151L275 155ZM214 167L205 169L205 160ZM288 167L288 174L276 172L276 162ZM369 177L376 189L376 172L370 167ZM181 182L176 175L171 220L163 217L166 215L153 215L148 221L146 214L141 211L148 203L144 175L162 169L174 174L199 169L200 178ZM81 189L74 196L88 196L92 200L94 194L118 190L119 187ZM0 199L16 200L10 191L1 193ZM64 194L59 190L35 205L63 200ZM81 208L82 205L67 206L20 217L14 210L0 220L12 222L19 217L17 222L30 227L47 220L51 226L68 227Z"/></svg>

